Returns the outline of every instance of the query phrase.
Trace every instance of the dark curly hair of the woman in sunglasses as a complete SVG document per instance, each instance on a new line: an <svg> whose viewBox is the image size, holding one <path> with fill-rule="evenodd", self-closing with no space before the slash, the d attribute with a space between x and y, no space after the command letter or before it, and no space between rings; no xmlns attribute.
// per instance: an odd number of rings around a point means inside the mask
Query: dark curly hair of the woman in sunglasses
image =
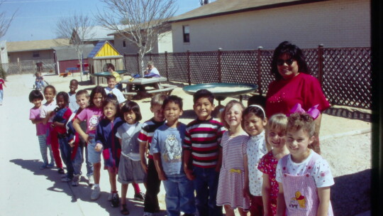
<svg viewBox="0 0 383 216"><path fill-rule="evenodd" d="M277 60L281 55L289 55L290 58L296 60L296 63L298 63L298 70L299 72L304 72L306 74L310 73L309 67L307 66L306 60L304 58L304 54L302 53L302 50L290 43L289 41L284 41L282 43L279 43L277 48L275 48L274 53L272 55L272 73L275 76L276 80L281 80L282 76L278 72L278 65Z"/></svg>

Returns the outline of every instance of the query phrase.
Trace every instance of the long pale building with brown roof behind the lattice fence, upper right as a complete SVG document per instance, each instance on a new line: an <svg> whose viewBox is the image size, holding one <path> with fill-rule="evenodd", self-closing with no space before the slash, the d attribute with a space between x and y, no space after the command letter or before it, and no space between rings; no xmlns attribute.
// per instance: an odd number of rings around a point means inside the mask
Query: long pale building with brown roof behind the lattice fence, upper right
<svg viewBox="0 0 383 216"><path fill-rule="evenodd" d="M217 0L171 21L173 52L371 45L370 0Z"/></svg>

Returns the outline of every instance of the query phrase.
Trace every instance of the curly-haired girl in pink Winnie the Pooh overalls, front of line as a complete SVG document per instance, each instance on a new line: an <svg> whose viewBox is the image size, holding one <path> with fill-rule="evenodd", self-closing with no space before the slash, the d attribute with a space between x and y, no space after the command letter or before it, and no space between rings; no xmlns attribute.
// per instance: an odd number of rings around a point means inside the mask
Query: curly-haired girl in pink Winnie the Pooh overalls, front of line
<svg viewBox="0 0 383 216"><path fill-rule="evenodd" d="M287 121L289 154L278 161L277 215L333 215L333 175L325 159L312 150L315 123L309 114L294 113Z"/></svg>

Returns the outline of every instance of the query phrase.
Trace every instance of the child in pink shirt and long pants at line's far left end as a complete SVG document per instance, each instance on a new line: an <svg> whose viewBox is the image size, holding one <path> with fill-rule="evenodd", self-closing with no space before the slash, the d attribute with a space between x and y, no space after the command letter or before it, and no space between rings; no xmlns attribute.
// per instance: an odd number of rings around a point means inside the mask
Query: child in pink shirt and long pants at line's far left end
<svg viewBox="0 0 383 216"><path fill-rule="evenodd" d="M29 94L29 102L33 103L35 106L32 107L29 111L29 119L32 121L32 124L36 125L36 135L38 136L38 143L40 144L40 153L43 158L44 164L40 166L40 169L52 168L54 166L54 159L52 148L47 145L47 128L43 124L43 119L40 118L41 109L43 109L41 102L43 101L43 94L39 90L33 90ZM47 149L49 149L50 154L50 163L48 163Z"/></svg>

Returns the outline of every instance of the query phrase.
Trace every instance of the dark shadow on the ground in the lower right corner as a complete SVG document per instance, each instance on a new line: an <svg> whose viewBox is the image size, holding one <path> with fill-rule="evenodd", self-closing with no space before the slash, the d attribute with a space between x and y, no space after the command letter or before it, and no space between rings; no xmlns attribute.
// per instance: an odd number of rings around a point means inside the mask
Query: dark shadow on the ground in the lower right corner
<svg viewBox="0 0 383 216"><path fill-rule="evenodd" d="M334 215L350 216L371 209L371 169L334 178L331 203Z"/></svg>

